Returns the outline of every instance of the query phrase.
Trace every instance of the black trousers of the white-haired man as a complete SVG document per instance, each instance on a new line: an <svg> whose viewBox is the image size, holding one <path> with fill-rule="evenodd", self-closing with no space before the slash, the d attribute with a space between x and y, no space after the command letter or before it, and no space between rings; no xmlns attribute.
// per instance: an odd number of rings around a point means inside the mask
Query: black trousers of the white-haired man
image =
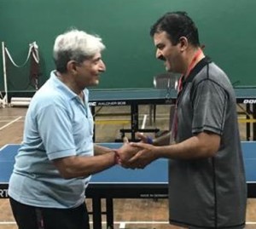
<svg viewBox="0 0 256 229"><path fill-rule="evenodd" d="M74 209L38 208L9 198L19 229L90 229L85 203Z"/></svg>

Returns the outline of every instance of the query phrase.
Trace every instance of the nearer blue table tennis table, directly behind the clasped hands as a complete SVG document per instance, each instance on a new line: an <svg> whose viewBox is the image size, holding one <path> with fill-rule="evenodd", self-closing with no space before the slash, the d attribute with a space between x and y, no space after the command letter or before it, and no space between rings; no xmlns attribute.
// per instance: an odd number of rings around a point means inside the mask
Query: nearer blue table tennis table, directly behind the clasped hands
<svg viewBox="0 0 256 229"><path fill-rule="evenodd" d="M101 143L119 148L121 143ZM241 142L247 176L247 197L256 198L256 141ZM0 151L0 198L8 198L9 177L20 145L6 145ZM168 198L168 160L159 159L145 169L123 169L114 166L92 176L85 195L92 199L93 228L102 228L106 215L107 228L113 228L114 198ZM102 199L106 211L102 212Z"/></svg>

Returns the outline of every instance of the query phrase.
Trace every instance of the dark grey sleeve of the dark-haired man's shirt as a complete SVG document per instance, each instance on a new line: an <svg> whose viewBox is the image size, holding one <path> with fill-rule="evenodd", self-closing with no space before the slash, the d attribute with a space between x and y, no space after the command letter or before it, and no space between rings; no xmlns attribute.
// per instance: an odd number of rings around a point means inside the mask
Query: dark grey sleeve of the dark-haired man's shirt
<svg viewBox="0 0 256 229"><path fill-rule="evenodd" d="M209 131L222 135L228 106L228 94L218 83L205 79L195 87L193 104L193 135Z"/></svg>

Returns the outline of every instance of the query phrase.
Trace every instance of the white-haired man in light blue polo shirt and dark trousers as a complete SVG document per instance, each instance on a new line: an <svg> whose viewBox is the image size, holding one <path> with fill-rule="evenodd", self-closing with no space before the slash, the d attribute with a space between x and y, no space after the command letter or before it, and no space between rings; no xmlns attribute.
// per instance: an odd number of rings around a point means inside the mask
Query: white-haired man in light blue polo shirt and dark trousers
<svg viewBox="0 0 256 229"><path fill-rule="evenodd" d="M9 180L19 229L88 229L84 191L90 175L117 163L117 153L93 143L89 86L106 66L102 39L71 30L56 37L55 71L33 96L23 142Z"/></svg>

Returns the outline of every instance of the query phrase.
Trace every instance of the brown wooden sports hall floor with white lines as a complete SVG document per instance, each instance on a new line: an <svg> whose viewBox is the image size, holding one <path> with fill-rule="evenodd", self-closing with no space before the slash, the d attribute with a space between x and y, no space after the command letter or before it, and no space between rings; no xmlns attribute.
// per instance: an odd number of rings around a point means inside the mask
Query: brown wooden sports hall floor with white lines
<svg viewBox="0 0 256 229"><path fill-rule="evenodd" d="M118 110L117 110L118 109ZM129 107L103 107L100 112L128 112ZM157 106L156 122L148 121L148 106L140 106L140 125L145 128L154 126L161 130L168 129L169 107ZM0 148L6 144L20 144L22 139L26 107L0 108ZM143 122L147 120L146 123ZM146 118L145 118L146 117ZM96 120L96 142L113 142L119 138L119 129L129 128L129 117L98 117ZM111 121L115 120L115 122ZM116 122L119 120L119 122ZM241 140L245 140L245 123L240 124ZM90 199L86 200L90 210ZM167 200L158 199L115 199L114 200L115 229L181 229L169 226ZM234 209L236 211L236 209ZM90 216L91 217L91 216ZM104 220L104 218L103 218ZM8 199L0 199L0 229L16 229L15 220L9 208ZM105 229L106 226L103 228ZM107 228L106 228L107 229ZM247 201L246 229L256 229L256 199Z"/></svg>

